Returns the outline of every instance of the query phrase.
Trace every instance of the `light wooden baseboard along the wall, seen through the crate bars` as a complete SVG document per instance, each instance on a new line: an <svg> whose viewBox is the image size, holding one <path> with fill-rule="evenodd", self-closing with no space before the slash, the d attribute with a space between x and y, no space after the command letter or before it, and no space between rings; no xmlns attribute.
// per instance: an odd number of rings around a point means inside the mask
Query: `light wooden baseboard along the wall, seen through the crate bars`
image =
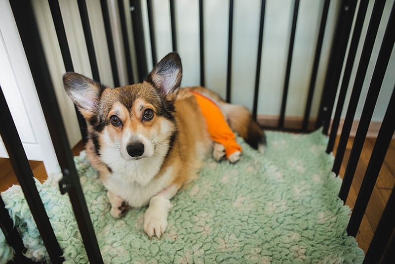
<svg viewBox="0 0 395 264"><path fill-rule="evenodd" d="M279 116L272 115L257 115L257 122L261 126L265 127L276 127L278 125ZM284 127L291 129L301 129L303 123L303 117L290 116L284 118ZM337 130L337 134L340 135L343 129L344 119L340 120L339 129ZM356 129L358 128L359 120L354 120L353 125L351 127L350 136L356 135ZM314 130L316 125L316 118L311 118L308 124L308 130ZM332 122L331 122L332 125ZM373 121L370 122L369 129L367 131L366 137L376 138L379 130L380 130L381 122ZM330 127L329 127L330 131ZM395 135L393 136L395 138Z"/></svg>

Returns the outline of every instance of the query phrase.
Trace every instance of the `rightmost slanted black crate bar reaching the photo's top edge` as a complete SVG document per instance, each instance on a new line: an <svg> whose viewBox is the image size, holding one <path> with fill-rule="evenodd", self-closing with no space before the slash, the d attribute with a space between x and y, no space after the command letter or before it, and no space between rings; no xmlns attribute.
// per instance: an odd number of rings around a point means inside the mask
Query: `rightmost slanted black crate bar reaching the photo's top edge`
<svg viewBox="0 0 395 264"><path fill-rule="evenodd" d="M333 162L332 172L334 172L336 175L339 174L340 166L343 162L344 152L346 150L347 141L349 139L351 126L353 125L356 106L358 104L359 95L362 89L363 82L365 80L370 55L373 50L373 45L380 24L381 15L383 13L384 3L385 1L376 1L373 6L373 11L370 17L365 42L363 43L362 53L356 71L356 78L354 81L353 90L351 92L349 106L347 108L346 118L343 123L343 129L336 151L335 161Z"/></svg>

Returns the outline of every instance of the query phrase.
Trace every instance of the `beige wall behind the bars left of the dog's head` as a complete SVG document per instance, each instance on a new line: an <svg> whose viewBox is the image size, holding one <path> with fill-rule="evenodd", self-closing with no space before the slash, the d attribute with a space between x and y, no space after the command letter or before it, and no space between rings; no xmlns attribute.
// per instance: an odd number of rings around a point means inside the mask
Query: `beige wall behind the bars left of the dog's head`
<svg viewBox="0 0 395 264"><path fill-rule="evenodd" d="M72 56L74 70L87 77L92 78L88 52L82 30L81 19L77 1L59 1L65 31L68 39L70 53ZM109 13L113 38L116 47L116 57L118 75L121 85L127 85L125 71L125 60L123 59L123 45L120 39L118 4L116 1L109 1ZM104 30L102 10L99 0L87 0L89 23L91 27L92 39L98 64L101 83L114 87L113 75L111 71L110 55L108 52L107 40ZM63 122L71 146L76 145L81 140L77 116L74 104L63 89L62 76L66 72L62 60L62 54L56 37L56 31L52 22L52 17L47 0L33 1L34 12L38 22L41 41L46 54L52 84L56 92L56 97L61 109Z"/></svg>

